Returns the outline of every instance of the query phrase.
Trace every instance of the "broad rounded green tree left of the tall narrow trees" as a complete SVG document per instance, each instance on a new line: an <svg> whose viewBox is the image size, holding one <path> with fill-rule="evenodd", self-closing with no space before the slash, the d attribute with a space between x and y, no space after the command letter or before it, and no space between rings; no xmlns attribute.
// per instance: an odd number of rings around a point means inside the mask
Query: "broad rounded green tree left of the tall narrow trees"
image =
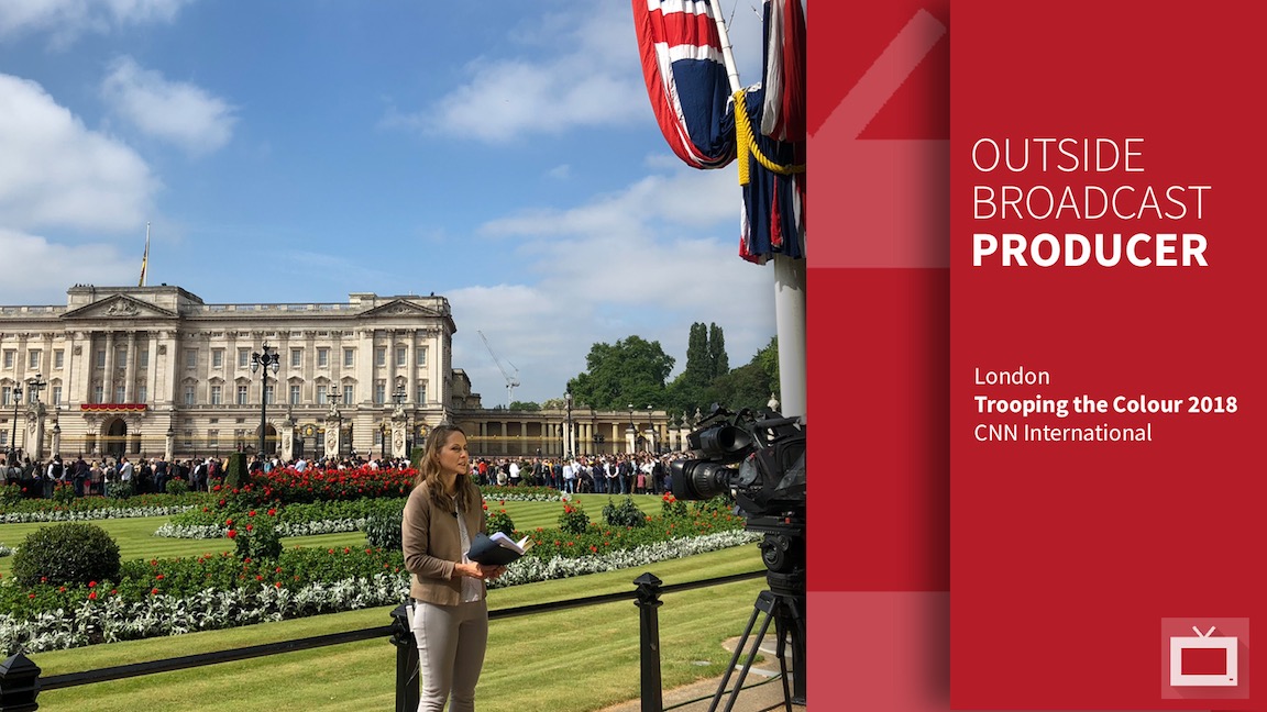
<svg viewBox="0 0 1267 712"><path fill-rule="evenodd" d="M659 341L630 336L616 343L595 343L585 356L585 372L568 381L573 403L599 410L625 410L630 403L639 410L647 405L664 407L665 379L674 359Z"/></svg>

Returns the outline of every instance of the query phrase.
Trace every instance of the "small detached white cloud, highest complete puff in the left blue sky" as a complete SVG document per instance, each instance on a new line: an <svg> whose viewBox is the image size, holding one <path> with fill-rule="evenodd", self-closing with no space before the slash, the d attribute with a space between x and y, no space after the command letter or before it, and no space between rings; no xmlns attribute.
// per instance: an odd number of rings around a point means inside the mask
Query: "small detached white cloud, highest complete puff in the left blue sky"
<svg viewBox="0 0 1267 712"><path fill-rule="evenodd" d="M132 57L110 66L101 94L115 115L141 132L195 155L224 147L237 122L223 99L189 82L169 81Z"/></svg>

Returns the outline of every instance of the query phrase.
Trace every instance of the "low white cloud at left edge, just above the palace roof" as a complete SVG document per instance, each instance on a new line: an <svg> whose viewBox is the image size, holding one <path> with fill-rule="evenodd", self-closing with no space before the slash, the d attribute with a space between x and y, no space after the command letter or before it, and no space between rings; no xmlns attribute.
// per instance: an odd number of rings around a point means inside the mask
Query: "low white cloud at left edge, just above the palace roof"
<svg viewBox="0 0 1267 712"><path fill-rule="evenodd" d="M0 227L0 304L66 304L72 284L136 284L141 257L120 258L113 245L58 245Z"/></svg>

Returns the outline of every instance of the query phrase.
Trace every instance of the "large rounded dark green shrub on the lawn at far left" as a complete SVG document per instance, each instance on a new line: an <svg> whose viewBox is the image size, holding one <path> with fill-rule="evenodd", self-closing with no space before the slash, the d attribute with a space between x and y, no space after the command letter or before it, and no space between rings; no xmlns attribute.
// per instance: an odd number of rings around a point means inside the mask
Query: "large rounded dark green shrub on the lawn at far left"
<svg viewBox="0 0 1267 712"><path fill-rule="evenodd" d="M119 545L96 524L66 522L41 527L13 557L13 576L23 585L87 584L119 575Z"/></svg>

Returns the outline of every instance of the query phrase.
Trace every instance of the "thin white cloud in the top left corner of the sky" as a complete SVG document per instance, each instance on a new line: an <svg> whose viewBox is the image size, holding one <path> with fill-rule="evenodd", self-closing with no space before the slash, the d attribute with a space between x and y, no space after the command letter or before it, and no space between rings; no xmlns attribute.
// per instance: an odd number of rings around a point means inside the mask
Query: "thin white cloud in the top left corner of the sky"
<svg viewBox="0 0 1267 712"><path fill-rule="evenodd" d="M0 38L49 32L57 46L67 46L87 32L115 27L171 22L193 0L4 0Z"/></svg>

